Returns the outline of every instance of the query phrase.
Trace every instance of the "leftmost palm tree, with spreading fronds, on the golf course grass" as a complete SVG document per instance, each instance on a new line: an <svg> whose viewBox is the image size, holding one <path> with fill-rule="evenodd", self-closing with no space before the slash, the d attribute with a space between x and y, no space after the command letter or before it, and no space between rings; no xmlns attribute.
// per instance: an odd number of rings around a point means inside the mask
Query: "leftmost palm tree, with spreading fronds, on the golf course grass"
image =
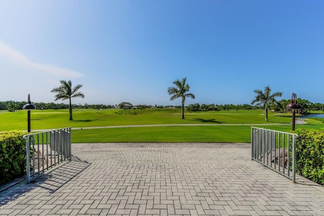
<svg viewBox="0 0 324 216"><path fill-rule="evenodd" d="M71 98L85 98L85 95L81 92L78 92L80 88L82 88L82 85L77 84L75 87L72 89L72 82L71 80L61 80L60 81L61 85L60 87L52 89L51 92L57 93L55 95L55 101L57 100L66 100L69 99L69 112L70 112L70 118L69 120L72 121L72 103L71 103Z"/></svg>

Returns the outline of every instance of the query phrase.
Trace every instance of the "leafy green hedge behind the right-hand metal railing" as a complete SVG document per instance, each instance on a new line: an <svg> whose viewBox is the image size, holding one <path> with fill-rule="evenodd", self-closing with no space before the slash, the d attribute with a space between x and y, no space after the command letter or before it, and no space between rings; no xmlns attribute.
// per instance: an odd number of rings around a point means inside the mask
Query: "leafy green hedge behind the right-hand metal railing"
<svg viewBox="0 0 324 216"><path fill-rule="evenodd" d="M296 174L324 185L324 131L297 129Z"/></svg>

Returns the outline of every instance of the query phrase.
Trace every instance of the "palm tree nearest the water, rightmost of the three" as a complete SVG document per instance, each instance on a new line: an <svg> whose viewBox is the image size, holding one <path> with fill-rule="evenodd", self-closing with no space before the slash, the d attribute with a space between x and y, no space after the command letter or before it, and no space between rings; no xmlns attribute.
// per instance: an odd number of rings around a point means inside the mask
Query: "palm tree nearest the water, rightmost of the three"
<svg viewBox="0 0 324 216"><path fill-rule="evenodd" d="M257 94L255 96L255 99L251 102L251 104L255 104L255 106L263 106L263 109L265 109L265 121L268 121L268 106L270 104L276 103L279 105L279 102L275 99L276 97L281 97L282 92L276 92L271 95L271 89L269 85L267 85L264 88L264 92L261 90L254 90L254 92Z"/></svg>

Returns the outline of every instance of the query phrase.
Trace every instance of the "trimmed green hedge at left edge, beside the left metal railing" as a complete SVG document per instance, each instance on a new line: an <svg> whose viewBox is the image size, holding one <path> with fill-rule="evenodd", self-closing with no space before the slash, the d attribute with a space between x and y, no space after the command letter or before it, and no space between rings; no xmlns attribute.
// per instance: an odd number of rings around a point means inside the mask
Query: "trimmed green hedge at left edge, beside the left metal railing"
<svg viewBox="0 0 324 216"><path fill-rule="evenodd" d="M27 133L9 131L0 133L0 185L26 173Z"/></svg>

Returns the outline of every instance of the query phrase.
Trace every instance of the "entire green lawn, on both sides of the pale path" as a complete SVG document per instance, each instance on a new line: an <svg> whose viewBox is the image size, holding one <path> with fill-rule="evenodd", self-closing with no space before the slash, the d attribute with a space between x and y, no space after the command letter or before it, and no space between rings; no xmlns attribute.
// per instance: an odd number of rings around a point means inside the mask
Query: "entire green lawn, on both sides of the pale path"
<svg viewBox="0 0 324 216"><path fill-rule="evenodd" d="M72 131L73 143L92 142L250 142L251 126L239 124L291 123L291 114L268 113L269 121L264 121L263 110L230 110L200 113L185 113L180 119L179 109L74 109L73 121L68 120L68 110L32 110L31 129L51 129L72 126L114 126L147 124L217 124L194 126L152 126L121 127L102 129L75 129ZM0 131L12 129L25 130L27 112L0 112ZM224 125L238 124L238 125ZM256 125L277 131L290 131L287 125ZM296 128L324 127L324 123L308 120L307 124Z"/></svg>

